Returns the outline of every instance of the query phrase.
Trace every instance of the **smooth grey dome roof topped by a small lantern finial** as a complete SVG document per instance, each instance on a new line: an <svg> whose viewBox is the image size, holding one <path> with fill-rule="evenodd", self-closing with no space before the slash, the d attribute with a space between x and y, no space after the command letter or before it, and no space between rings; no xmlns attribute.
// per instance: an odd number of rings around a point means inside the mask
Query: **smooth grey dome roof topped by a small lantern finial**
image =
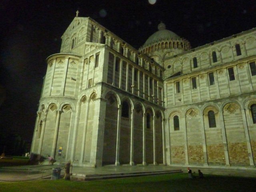
<svg viewBox="0 0 256 192"><path fill-rule="evenodd" d="M150 44L154 44L156 42L159 42L161 40L166 40L166 39L180 39L180 36L178 36L176 33L167 30L166 26L164 23L160 23L158 25L158 31L152 34L144 43L144 47L148 46Z"/></svg>

